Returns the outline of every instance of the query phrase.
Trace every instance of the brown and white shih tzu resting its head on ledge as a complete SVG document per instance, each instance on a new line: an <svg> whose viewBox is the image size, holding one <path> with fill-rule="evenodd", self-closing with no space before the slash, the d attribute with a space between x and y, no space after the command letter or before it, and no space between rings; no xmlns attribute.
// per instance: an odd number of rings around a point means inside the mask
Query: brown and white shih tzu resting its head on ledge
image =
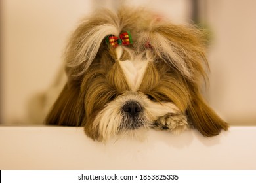
<svg viewBox="0 0 256 183"><path fill-rule="evenodd" d="M218 135L228 124L205 103L205 40L143 9L101 10L83 20L64 55L68 82L46 124L83 126L96 141L154 128Z"/></svg>

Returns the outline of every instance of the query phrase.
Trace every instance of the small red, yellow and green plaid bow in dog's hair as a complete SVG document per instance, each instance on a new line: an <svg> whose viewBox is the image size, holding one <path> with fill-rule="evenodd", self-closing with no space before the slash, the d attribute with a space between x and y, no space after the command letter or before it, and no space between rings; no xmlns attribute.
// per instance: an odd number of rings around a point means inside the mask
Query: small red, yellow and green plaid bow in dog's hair
<svg viewBox="0 0 256 183"><path fill-rule="evenodd" d="M114 35L108 35L106 37L106 42L110 46L113 46L116 48L118 45L127 46L129 44L133 44L133 40L131 39L131 34L127 31L124 33L121 33L119 37L116 37Z"/></svg>

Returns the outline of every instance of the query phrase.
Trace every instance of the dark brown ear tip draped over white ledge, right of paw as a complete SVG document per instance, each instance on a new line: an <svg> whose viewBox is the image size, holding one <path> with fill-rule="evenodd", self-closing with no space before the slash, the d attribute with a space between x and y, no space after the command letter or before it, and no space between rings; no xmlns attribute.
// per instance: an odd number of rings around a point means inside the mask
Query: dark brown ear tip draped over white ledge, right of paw
<svg viewBox="0 0 256 183"><path fill-rule="evenodd" d="M212 137L218 135L222 129L228 130L228 124L205 103L199 92L191 92L191 95L186 113L188 120L202 135Z"/></svg>

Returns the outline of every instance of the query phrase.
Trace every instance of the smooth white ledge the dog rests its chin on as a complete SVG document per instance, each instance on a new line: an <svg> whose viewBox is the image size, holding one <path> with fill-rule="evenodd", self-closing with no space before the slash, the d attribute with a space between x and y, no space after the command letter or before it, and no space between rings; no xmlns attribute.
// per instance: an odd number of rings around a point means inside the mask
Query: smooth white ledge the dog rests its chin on
<svg viewBox="0 0 256 183"><path fill-rule="evenodd" d="M0 127L0 169L256 169L256 127L205 138L150 130L144 142L95 142L82 127Z"/></svg>

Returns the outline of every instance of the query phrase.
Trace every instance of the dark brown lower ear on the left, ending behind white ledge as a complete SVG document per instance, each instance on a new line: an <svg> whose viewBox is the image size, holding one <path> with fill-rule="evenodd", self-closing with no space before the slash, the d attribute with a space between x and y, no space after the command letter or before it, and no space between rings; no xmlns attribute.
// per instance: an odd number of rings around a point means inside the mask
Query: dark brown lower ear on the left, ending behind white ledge
<svg viewBox="0 0 256 183"><path fill-rule="evenodd" d="M66 84L45 122L49 125L80 126L85 116L84 111L79 87Z"/></svg>

